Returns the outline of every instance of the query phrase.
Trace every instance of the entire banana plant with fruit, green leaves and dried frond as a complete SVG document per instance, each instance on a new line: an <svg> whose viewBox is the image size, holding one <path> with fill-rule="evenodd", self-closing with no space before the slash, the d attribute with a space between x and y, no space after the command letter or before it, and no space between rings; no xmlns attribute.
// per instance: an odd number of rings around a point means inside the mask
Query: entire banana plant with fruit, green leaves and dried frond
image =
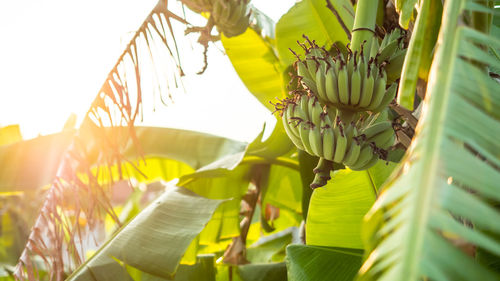
<svg viewBox="0 0 500 281"><path fill-rule="evenodd" d="M248 145L133 127L143 83L138 49L159 39L179 62L164 27L173 36L171 19L188 24L160 1L48 172L9 177L19 173L14 166L0 174L2 190L52 183L16 277L497 280L494 1L351 2L303 0L274 24L248 1L182 0L207 17L187 32L198 32L205 48L220 39L249 91L282 115L267 140L261 134ZM174 80L184 74L172 73ZM332 79L338 84L325 82ZM163 83L160 90L171 85ZM332 151L327 136L336 139ZM15 148L5 146L4 155ZM147 207L131 197L122 209L106 192L119 180L158 178L179 180L161 183ZM75 223L81 214L88 227L102 217L117 221L88 259L75 247L83 237L76 233L88 232ZM285 251L291 243L306 245ZM46 272L36 275L35 266Z"/></svg>

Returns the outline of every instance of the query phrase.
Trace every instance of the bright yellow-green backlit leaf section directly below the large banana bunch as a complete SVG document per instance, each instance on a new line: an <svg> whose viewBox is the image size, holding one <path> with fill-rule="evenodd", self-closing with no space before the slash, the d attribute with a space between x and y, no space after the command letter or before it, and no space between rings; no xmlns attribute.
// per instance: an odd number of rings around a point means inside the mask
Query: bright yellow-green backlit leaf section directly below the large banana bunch
<svg viewBox="0 0 500 281"><path fill-rule="evenodd" d="M377 198L394 163L382 160L365 171L338 170L314 190L306 223L308 245L362 249L363 216Z"/></svg>

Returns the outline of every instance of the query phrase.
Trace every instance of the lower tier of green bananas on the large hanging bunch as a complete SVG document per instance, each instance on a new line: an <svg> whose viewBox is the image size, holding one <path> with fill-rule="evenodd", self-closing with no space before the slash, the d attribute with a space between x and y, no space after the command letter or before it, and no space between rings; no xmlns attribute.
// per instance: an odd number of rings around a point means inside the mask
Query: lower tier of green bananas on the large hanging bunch
<svg viewBox="0 0 500 281"><path fill-rule="evenodd" d="M296 94L277 104L285 131L292 142L307 153L342 163L352 170L365 170L386 157L395 140L392 123L357 118L342 122L339 111L323 107L315 96ZM359 117L362 115L360 114Z"/></svg>

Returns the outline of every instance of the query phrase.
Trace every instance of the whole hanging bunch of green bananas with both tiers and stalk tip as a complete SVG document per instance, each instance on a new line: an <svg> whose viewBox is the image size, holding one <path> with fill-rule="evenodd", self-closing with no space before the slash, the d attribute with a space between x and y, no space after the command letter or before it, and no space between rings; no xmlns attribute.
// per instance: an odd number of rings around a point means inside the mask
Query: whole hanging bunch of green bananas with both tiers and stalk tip
<svg viewBox="0 0 500 281"><path fill-rule="evenodd" d="M387 159L396 134L388 121L388 104L394 99L406 50L399 30L379 43L373 40L359 53L347 46L331 55L315 41L299 45L288 83L292 97L274 104L285 131L299 149L320 157L311 188L326 184L333 162L352 170L365 170ZM397 73L399 71L399 73ZM296 79L296 80L295 80ZM292 82L298 81L297 88Z"/></svg>

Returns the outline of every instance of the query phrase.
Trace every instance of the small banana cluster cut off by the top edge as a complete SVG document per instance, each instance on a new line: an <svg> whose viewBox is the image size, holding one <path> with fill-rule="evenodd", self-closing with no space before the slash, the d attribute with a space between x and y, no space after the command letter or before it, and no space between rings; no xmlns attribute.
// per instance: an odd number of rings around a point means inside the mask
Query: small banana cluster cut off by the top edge
<svg viewBox="0 0 500 281"><path fill-rule="evenodd" d="M211 17L220 33L224 33L226 37L233 37L245 32L250 23L249 0L204 1L214 2Z"/></svg>

